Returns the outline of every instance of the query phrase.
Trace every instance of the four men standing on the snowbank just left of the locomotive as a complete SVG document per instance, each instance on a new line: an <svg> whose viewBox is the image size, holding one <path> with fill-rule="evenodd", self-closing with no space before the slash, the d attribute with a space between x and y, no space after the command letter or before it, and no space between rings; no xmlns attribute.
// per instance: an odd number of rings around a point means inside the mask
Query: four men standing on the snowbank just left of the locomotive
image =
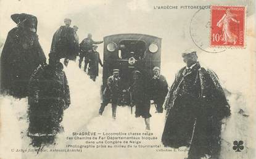
<svg viewBox="0 0 256 159"><path fill-rule="evenodd" d="M79 44L79 38L77 35L78 27L76 25L70 27L72 20L65 18L64 26L61 26L52 38L51 52L56 54L60 59L65 58L64 65L68 66L69 60L76 60L76 56L79 56L79 68L84 60L84 71L88 67L88 75L93 81L96 81L96 77L99 76L99 64L103 67L99 52L97 52L97 45L103 41L94 41L91 33L87 38L83 39ZM89 64L89 66L88 66Z"/></svg>

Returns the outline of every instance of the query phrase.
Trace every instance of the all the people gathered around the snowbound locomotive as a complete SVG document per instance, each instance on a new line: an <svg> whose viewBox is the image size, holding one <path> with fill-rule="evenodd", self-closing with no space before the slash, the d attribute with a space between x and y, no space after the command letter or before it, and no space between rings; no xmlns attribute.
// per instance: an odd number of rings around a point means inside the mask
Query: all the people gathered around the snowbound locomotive
<svg viewBox="0 0 256 159"><path fill-rule="evenodd" d="M79 44L78 27L70 27L71 20L67 18L65 26L61 26L52 38L49 63L46 63L36 34L37 18L29 14L14 14L11 18L17 27L9 31L1 53L1 94L19 99L28 97L28 136L32 144L52 143L56 134L63 130L60 122L71 103L60 59L65 58L67 66L68 60L75 60L79 55L79 67L85 59L84 70L89 63L88 74L95 81L99 64L103 65L95 44L102 41L93 41L89 34ZM185 51L182 57L186 66L178 71L170 89L159 67L153 68L154 76L149 83L141 70L134 70L128 89L131 107L136 107L135 116L142 116L149 130L149 110L154 100L158 113L162 113L163 108L167 112L163 145L190 147L189 159L218 158L221 120L231 114L229 104L217 75L200 66L196 51ZM100 115L111 102L112 117L116 118L120 94L126 91L122 90L121 81L120 70L114 69L103 92Z"/></svg>

